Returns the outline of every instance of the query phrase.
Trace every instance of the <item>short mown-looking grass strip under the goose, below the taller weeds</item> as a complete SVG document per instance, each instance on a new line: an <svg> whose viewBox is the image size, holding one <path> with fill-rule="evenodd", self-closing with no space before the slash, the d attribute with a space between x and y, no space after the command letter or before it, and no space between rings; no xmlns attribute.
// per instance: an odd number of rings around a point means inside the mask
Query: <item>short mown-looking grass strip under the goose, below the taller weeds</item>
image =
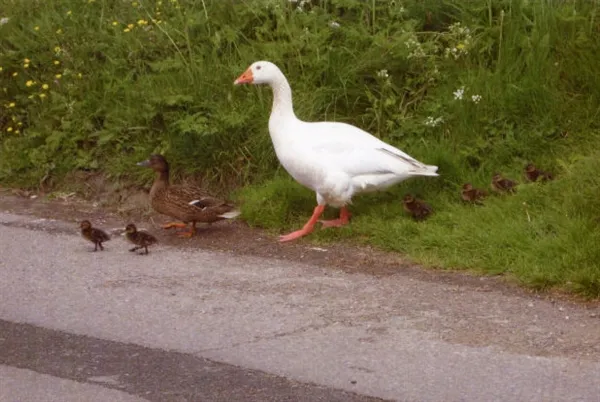
<svg viewBox="0 0 600 402"><path fill-rule="evenodd" d="M594 174L599 156L574 163L553 182L523 183L515 195L492 195L482 206L464 204L458 188L444 185L443 177L407 181L357 197L351 225L317 229L311 236L358 240L425 265L512 274L535 289L565 286L595 297L600 291L600 179ZM467 178L487 183L475 175ZM425 196L433 206L428 220L415 222L405 214L400 200L407 192ZM245 188L239 199L251 224L286 230L303 225L315 205L314 195L288 177ZM336 213L328 210L330 217Z"/></svg>

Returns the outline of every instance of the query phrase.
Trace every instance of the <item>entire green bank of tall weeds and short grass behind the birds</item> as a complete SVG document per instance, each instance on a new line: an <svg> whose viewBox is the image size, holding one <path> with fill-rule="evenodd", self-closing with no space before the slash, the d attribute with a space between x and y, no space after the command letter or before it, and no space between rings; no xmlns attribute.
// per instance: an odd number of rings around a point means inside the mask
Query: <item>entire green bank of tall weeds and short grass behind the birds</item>
<svg viewBox="0 0 600 402"><path fill-rule="evenodd" d="M439 178L357 197L349 227L311 238L600 296L597 2L2 5L11 10L0 15L9 18L0 26L3 185L61 183L76 170L146 185L150 172L135 163L161 152L176 175L235 189L249 223L296 228L314 194L278 166L267 129L270 91L232 85L251 62L267 59L288 76L299 117L358 125L440 167ZM522 182L529 161L557 180L522 185L481 207L460 202L462 183L487 187L494 171ZM435 214L408 219L406 192Z"/></svg>

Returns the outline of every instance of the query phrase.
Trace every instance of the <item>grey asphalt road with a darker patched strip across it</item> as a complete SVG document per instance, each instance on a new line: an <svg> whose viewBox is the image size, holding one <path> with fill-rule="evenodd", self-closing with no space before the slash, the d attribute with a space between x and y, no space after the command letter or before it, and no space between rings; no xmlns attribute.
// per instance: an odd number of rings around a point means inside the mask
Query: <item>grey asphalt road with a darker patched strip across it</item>
<svg viewBox="0 0 600 402"><path fill-rule="evenodd" d="M0 401L600 401L597 307L90 246L0 213Z"/></svg>

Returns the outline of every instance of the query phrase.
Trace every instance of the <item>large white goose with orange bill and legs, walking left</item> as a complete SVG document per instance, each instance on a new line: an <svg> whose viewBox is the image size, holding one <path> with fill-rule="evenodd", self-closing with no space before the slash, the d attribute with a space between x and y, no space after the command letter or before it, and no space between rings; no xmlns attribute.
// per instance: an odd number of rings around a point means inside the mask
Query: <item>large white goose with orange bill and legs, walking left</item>
<svg viewBox="0 0 600 402"><path fill-rule="evenodd" d="M349 221L346 205L354 194L384 189L413 176L438 176L437 166L425 165L358 127L298 119L290 85L271 62L252 63L234 84L271 86L269 133L277 158L296 181L317 194L311 218L302 229L281 236L282 242L312 232L327 204L341 208L340 217L320 221L323 227L342 226Z"/></svg>

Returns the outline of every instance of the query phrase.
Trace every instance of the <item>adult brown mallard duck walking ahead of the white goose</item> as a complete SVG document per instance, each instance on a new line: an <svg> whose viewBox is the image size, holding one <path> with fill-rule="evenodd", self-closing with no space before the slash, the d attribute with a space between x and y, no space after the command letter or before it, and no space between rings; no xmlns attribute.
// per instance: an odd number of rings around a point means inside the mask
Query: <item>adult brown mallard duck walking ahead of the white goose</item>
<svg viewBox="0 0 600 402"><path fill-rule="evenodd" d="M138 163L139 166L154 170L156 179L150 189L150 205L161 214L181 220L170 222L164 229L192 227L180 233L182 237L192 237L196 233L196 222L213 223L223 219L232 219L240 214L235 206L227 201L213 197L205 190L183 185L169 184L169 163L162 155L152 155L150 159Z"/></svg>

